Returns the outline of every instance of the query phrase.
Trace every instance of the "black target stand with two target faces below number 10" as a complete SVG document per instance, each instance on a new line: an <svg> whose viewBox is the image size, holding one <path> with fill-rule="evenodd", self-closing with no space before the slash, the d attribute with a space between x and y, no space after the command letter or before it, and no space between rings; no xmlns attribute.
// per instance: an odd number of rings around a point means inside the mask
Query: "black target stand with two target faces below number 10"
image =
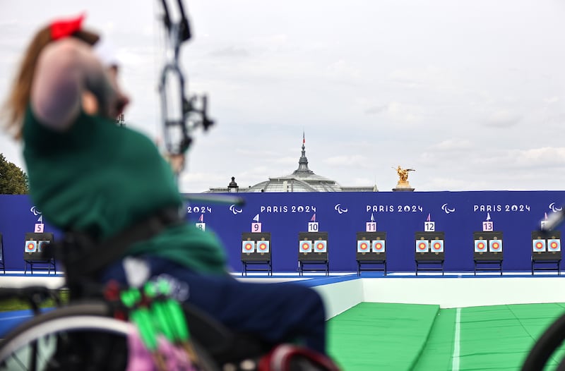
<svg viewBox="0 0 565 371"><path fill-rule="evenodd" d="M307 268L307 265L318 268ZM323 266L323 267L319 267ZM298 274L304 272L326 272L330 275L330 259L328 255L328 232L298 233Z"/></svg>

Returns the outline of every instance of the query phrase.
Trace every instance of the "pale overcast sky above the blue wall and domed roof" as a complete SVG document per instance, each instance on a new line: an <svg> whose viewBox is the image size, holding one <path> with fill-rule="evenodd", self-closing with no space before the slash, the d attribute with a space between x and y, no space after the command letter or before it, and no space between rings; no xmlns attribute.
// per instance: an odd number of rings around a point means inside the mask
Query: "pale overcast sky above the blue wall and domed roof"
<svg viewBox="0 0 565 371"><path fill-rule="evenodd" d="M2 0L0 97L38 25L86 11L117 47L126 123L157 140L163 34L155 1ZM309 167L390 191L565 190L562 0L185 0L191 93L217 125L195 134L183 192ZM20 147L0 152L25 169Z"/></svg>

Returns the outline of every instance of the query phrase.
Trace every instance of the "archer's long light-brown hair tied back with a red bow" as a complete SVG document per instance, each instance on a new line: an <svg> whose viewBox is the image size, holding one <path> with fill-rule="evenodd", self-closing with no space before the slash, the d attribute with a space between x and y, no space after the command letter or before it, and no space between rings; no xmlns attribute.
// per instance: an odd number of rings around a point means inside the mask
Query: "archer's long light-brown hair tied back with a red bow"
<svg viewBox="0 0 565 371"><path fill-rule="evenodd" d="M94 45L100 39L100 36L95 32L87 30L78 30L71 37L81 39L90 45ZM43 48L51 42L53 42L51 25L46 25L37 31L23 55L18 73L16 73L16 78L13 80L11 91L8 93L6 102L4 102L2 107L2 116L6 115L5 129L15 139L21 137L23 116L30 102L31 85L35 75L37 59L39 59Z"/></svg>

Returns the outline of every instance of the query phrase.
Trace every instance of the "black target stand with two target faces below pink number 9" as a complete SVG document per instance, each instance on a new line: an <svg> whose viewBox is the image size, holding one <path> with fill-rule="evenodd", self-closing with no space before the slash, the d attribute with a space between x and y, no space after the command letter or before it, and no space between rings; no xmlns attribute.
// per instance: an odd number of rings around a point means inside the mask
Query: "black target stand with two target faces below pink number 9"
<svg viewBox="0 0 565 371"><path fill-rule="evenodd" d="M242 233L242 276L247 272L267 272L273 276L273 260L271 257L270 232ZM263 265L259 268L249 268L249 265Z"/></svg>

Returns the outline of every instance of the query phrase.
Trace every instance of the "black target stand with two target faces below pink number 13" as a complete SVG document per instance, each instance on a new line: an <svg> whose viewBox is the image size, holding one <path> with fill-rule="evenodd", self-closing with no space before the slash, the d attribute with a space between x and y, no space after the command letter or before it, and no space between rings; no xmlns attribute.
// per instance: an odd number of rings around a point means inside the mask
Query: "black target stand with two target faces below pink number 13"
<svg viewBox="0 0 565 371"><path fill-rule="evenodd" d="M502 275L502 232L501 231L482 231L473 232L473 243L475 250L472 260L475 266L474 274L477 272L494 271Z"/></svg>

